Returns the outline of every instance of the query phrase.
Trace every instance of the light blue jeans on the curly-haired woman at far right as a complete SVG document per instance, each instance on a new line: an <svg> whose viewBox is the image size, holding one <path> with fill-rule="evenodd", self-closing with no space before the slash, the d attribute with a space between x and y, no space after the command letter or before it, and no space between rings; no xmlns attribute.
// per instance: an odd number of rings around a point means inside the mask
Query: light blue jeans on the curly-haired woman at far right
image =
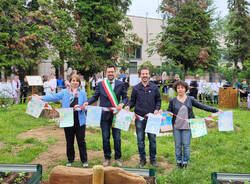
<svg viewBox="0 0 250 184"><path fill-rule="evenodd" d="M183 163L188 163L190 158L191 130L174 128L174 142L177 163L182 163L182 160Z"/></svg>

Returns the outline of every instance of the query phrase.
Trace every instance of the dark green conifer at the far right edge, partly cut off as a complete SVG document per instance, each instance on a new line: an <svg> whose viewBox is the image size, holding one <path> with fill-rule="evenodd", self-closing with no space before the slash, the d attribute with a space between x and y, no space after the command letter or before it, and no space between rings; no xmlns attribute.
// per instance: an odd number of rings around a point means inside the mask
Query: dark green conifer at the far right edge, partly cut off
<svg viewBox="0 0 250 184"><path fill-rule="evenodd" d="M234 63L236 73L239 64L244 65L250 60L250 16L249 2L246 0L228 0L229 17L227 23L226 59Z"/></svg>

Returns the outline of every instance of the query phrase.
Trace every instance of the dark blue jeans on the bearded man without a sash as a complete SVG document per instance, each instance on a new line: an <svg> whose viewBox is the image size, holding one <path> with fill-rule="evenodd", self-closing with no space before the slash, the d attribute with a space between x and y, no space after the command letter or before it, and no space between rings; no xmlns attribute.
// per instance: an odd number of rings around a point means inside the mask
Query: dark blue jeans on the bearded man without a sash
<svg viewBox="0 0 250 184"><path fill-rule="evenodd" d="M140 153L140 159L146 160L145 152L145 129L147 125L147 120L135 120L136 135L137 135L137 146ZM156 155L156 135L148 133L149 140L149 154L150 160L155 160Z"/></svg>

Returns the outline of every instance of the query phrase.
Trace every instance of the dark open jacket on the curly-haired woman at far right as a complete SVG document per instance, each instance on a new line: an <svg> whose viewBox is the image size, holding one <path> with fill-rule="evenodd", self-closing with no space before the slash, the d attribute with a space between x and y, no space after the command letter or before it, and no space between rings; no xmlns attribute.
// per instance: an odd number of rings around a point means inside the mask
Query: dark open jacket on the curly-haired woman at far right
<svg viewBox="0 0 250 184"><path fill-rule="evenodd" d="M172 112L173 114L177 115L182 105L183 103L181 103L179 100L177 100L177 97L175 97L170 101L167 111ZM188 108L188 119L195 118L194 112L193 112L193 106L199 109L205 110L205 111L209 111L209 112L219 111L218 109L215 109L213 107L210 107L208 105L204 105L198 102L196 99L194 99L194 97L191 97L191 96L187 96L187 99L185 100L184 105L186 105L186 107ZM173 124L175 122L175 119L176 117L173 116L173 120L172 120Z"/></svg>

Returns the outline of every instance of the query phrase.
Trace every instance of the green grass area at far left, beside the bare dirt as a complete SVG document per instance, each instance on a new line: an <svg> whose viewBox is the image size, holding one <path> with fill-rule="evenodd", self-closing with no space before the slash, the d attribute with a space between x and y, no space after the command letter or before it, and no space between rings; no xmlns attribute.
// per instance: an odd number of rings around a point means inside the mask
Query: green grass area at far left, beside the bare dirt
<svg viewBox="0 0 250 184"><path fill-rule="evenodd" d="M47 150L48 145L55 142L52 138L42 143L34 138L17 139L22 132L52 124L47 119L35 119L25 114L26 105L13 105L7 109L0 109L0 141L4 148L0 149L0 163L28 163L38 154ZM25 144L29 146L25 147ZM17 153L14 147L21 147ZM24 148L22 148L24 147Z"/></svg>

